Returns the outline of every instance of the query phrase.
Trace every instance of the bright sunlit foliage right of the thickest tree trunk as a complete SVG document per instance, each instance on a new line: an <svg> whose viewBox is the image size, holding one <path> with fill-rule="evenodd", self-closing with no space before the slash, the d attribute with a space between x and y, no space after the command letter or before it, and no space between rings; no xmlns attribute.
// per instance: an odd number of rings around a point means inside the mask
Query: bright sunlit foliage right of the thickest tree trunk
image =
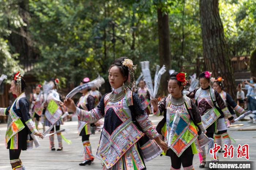
<svg viewBox="0 0 256 170"><path fill-rule="evenodd" d="M219 6L231 56L250 55L256 46L256 1L221 0Z"/></svg>

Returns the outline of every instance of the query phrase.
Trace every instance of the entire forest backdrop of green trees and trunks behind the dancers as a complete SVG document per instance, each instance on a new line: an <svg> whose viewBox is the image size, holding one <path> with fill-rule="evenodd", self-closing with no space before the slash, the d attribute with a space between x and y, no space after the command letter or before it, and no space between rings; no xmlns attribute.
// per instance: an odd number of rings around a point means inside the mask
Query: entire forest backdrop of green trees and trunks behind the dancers
<svg viewBox="0 0 256 170"><path fill-rule="evenodd" d="M251 56L256 75L255 47L254 0L0 0L0 73L9 80L22 71L67 88L97 73L107 80L121 56L138 65L136 77L140 61L150 61L154 75L156 64L180 71L203 58L234 96L230 60Z"/></svg>

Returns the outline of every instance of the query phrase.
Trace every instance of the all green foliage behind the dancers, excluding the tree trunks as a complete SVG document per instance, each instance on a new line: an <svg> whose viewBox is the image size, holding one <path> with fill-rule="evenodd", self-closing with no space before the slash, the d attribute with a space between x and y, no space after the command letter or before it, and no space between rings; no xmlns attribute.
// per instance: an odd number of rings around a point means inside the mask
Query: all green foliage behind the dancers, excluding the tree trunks
<svg viewBox="0 0 256 170"><path fill-rule="evenodd" d="M143 60L154 74L157 9L169 16L172 68L179 71L203 57L198 0L28 0L26 17L21 2L0 0L0 73L20 70L7 39L26 27L39 53L32 73L40 82L54 77L62 86L78 85L97 73L107 80L109 66L121 56L138 65L136 76ZM219 8L231 56L250 54L256 46L256 1L220 0Z"/></svg>

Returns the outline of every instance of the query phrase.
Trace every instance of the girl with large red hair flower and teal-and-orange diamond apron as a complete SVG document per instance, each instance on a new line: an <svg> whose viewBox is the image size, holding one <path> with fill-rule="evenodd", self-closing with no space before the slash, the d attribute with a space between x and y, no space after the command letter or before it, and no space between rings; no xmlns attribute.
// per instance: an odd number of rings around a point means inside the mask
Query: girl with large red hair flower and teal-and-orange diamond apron
<svg viewBox="0 0 256 170"><path fill-rule="evenodd" d="M174 72L168 80L170 94L159 103L157 99L151 100L155 116L163 112L164 118L156 129L163 135L165 142L167 142L167 134L170 134L170 127L172 124L177 124L169 150L163 153L171 158L171 170L180 170L181 164L185 170L194 169L193 156L201 151L197 137L204 135L202 132L206 131L195 103L182 94L186 84L186 73ZM174 122L177 111L180 112L180 120Z"/></svg>

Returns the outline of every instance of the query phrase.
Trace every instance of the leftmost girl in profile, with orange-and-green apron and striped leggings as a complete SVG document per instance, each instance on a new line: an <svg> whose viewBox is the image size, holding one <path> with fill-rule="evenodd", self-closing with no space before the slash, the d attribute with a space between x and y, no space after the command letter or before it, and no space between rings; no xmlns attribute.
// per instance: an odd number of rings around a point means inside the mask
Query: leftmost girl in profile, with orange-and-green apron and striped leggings
<svg viewBox="0 0 256 170"><path fill-rule="evenodd" d="M20 76L20 72L11 80L11 92L15 101L7 108L0 108L0 116L8 116L5 146L9 150L12 170L25 170L20 160L21 151L39 146L36 136L43 139L43 135L37 131L35 124L29 115L29 101L25 95L26 83Z"/></svg>

